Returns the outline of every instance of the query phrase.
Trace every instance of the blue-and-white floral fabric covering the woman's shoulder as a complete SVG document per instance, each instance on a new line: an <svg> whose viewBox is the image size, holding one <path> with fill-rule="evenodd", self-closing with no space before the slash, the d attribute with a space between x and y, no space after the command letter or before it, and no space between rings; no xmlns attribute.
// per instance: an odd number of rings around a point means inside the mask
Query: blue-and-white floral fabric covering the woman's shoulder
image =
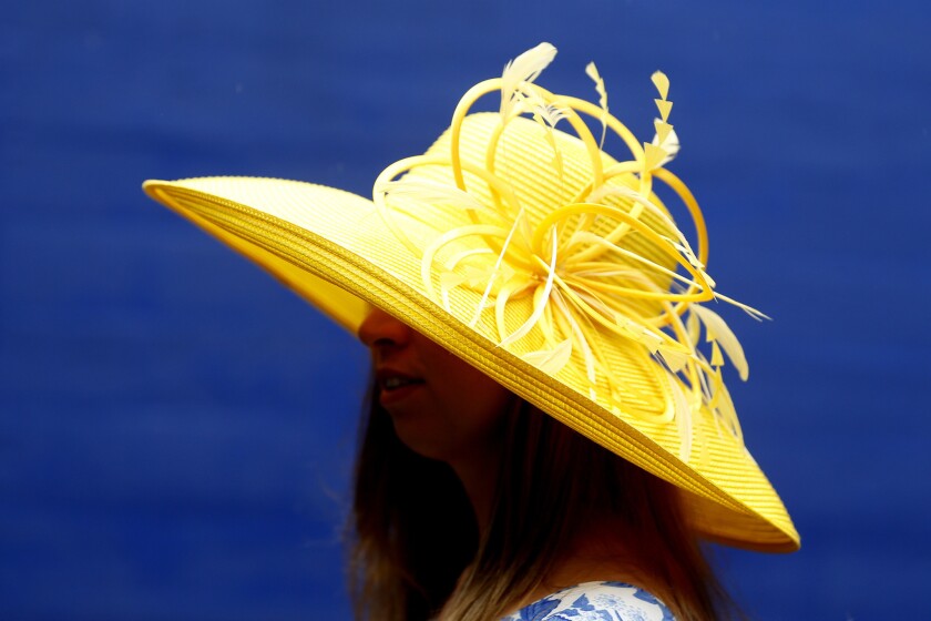
<svg viewBox="0 0 931 621"><path fill-rule="evenodd" d="M501 621L673 621L653 593L625 582L584 582L549 594Z"/></svg>

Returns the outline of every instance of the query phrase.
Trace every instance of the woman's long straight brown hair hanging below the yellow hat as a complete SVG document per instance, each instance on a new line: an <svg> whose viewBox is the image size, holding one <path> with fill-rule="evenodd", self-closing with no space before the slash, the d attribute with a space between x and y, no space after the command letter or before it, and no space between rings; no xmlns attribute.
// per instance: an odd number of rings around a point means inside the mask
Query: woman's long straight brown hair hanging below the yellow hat
<svg viewBox="0 0 931 621"><path fill-rule="evenodd" d="M624 551L635 573L653 580L677 619L720 619L733 608L675 487L518 397L481 539L453 470L398 439L377 387L368 410L348 525L357 619L426 621L444 607L457 621L499 619L540 587L592 516L630 533Z"/></svg>

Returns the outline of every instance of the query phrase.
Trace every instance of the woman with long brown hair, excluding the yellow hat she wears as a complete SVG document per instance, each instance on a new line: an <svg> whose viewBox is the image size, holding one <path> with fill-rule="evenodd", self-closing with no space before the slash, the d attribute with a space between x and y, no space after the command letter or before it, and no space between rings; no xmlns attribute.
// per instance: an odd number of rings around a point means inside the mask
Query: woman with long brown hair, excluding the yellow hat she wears
<svg viewBox="0 0 931 621"><path fill-rule="evenodd" d="M664 612L648 595L662 593L677 619L720 618L674 488L381 310L359 337L376 374L356 487L359 617L498 619L529 604L514 619L542 619L583 595Z"/></svg>

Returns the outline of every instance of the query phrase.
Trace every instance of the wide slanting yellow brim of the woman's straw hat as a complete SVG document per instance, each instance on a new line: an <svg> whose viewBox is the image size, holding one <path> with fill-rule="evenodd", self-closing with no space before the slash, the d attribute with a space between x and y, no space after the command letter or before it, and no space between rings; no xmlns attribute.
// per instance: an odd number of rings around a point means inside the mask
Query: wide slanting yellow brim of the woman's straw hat
<svg viewBox="0 0 931 621"><path fill-rule="evenodd" d="M257 177L147 181L145 192L258 263L356 333L372 305L415 327L502 386L631 462L685 490L688 517L712 540L789 552L799 537L741 442L699 429L705 448L683 462L653 438L664 430L584 398L424 296L418 262L381 226L371 201L331 187ZM699 471L700 470L700 471Z"/></svg>

